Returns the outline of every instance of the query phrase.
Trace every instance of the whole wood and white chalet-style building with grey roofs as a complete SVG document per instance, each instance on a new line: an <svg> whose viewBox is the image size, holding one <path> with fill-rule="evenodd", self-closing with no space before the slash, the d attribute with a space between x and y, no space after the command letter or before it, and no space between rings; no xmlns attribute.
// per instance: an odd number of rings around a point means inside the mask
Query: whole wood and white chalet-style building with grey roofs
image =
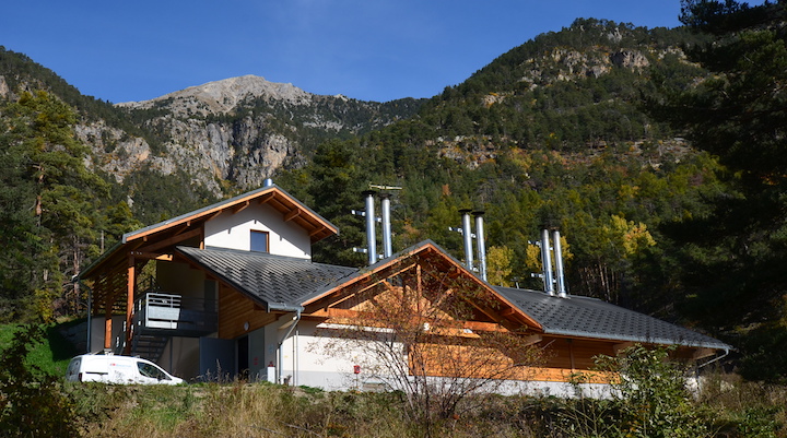
<svg viewBox="0 0 787 438"><path fill-rule="evenodd" d="M589 372L595 356L635 343L672 345L676 357L701 362L731 348L598 299L492 286L431 240L398 253L387 244L381 259L361 269L314 262L312 244L336 233L274 185L129 233L80 275L93 295L91 350L141 355L190 379L246 376L342 389L359 353L342 356L326 342L404 295L416 297L413 320L431 308L448 321L441 329L422 323L433 340L463 348L471 339L508 333L543 351L528 375L543 382L566 382ZM414 366L414 346L401 347Z"/></svg>

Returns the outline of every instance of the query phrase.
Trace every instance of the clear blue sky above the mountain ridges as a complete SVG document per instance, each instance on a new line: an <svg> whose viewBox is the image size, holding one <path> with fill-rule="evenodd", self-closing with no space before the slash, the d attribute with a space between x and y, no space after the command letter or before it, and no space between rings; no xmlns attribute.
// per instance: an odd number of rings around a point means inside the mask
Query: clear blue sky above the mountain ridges
<svg viewBox="0 0 787 438"><path fill-rule="evenodd" d="M434 96L577 17L679 14L680 0L17 0L0 45L113 103L244 74L387 102Z"/></svg>

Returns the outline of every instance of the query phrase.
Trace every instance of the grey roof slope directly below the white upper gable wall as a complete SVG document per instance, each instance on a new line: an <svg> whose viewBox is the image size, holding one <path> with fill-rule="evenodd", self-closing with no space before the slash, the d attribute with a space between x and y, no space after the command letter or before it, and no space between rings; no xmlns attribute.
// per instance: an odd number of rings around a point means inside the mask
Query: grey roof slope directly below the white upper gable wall
<svg viewBox="0 0 787 438"><path fill-rule="evenodd" d="M357 271L265 252L190 247L177 247L177 251L269 308L299 306L299 297L326 291Z"/></svg>

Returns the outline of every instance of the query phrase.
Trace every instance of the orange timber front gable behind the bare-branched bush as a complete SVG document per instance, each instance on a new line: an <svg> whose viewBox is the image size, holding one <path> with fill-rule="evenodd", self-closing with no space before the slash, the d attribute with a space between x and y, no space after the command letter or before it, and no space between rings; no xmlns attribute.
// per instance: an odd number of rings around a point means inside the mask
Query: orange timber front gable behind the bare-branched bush
<svg viewBox="0 0 787 438"><path fill-rule="evenodd" d="M333 338L391 336L412 376L524 379L540 360L541 327L433 244L313 298L304 317Z"/></svg>

